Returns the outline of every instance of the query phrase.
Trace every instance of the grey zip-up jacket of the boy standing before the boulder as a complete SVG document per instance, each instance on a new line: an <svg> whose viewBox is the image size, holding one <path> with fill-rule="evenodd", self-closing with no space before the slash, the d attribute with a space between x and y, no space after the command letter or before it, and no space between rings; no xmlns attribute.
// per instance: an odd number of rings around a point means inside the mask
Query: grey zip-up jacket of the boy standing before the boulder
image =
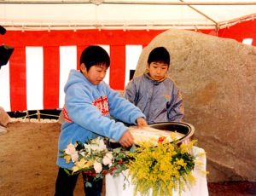
<svg viewBox="0 0 256 196"><path fill-rule="evenodd" d="M127 84L125 98L142 110L148 124L183 119L182 95L171 78L155 81L144 73Z"/></svg>

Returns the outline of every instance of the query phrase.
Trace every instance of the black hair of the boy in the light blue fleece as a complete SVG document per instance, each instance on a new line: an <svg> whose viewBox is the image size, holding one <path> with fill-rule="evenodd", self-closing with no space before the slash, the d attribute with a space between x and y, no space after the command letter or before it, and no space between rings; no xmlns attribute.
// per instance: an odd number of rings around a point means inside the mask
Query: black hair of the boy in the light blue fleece
<svg viewBox="0 0 256 196"><path fill-rule="evenodd" d="M110 65L110 58L105 49L101 46L90 45L82 52L80 56L80 65L84 63L87 70L91 66L105 64L107 67Z"/></svg>

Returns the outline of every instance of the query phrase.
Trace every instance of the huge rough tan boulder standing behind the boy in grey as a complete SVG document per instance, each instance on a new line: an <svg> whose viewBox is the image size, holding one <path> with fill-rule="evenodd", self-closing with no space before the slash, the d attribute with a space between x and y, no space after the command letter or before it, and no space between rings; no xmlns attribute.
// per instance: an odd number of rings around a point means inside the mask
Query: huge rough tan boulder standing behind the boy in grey
<svg viewBox="0 0 256 196"><path fill-rule="evenodd" d="M171 54L168 74L183 93L184 121L195 126L197 145L207 152L208 182L256 182L256 48L169 30L143 49L135 77L158 46Z"/></svg>

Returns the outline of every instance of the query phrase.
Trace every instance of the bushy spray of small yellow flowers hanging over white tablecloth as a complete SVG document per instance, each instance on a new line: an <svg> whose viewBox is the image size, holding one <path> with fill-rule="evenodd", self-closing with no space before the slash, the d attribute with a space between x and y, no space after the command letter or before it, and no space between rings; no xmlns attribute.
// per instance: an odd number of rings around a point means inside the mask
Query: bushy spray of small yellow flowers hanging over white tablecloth
<svg viewBox="0 0 256 196"><path fill-rule="evenodd" d="M195 176L191 170L195 167L195 157L189 152L195 144L166 142L164 137L159 138L157 147L152 142L144 142L137 147L137 153L131 153L129 175L135 185L135 195L172 195L173 188L180 195L185 186L195 183Z"/></svg>

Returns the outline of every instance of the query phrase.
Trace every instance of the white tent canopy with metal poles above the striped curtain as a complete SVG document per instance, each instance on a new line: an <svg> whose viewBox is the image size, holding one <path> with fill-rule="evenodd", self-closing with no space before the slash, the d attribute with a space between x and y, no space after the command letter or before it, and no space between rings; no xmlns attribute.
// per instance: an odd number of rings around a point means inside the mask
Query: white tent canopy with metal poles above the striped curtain
<svg viewBox="0 0 256 196"><path fill-rule="evenodd" d="M9 30L218 29L254 17L252 0L0 0Z"/></svg>

